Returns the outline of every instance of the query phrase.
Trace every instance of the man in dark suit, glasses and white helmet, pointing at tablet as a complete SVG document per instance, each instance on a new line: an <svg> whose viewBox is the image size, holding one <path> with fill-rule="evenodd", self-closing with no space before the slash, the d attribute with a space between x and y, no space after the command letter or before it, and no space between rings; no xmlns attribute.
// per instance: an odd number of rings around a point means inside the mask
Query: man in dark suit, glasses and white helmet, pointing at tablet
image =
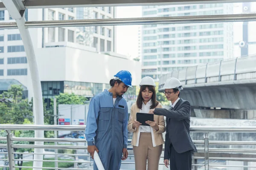
<svg viewBox="0 0 256 170"><path fill-rule="evenodd" d="M164 163L168 167L170 160L170 170L191 170L192 154L197 152L189 136L191 105L179 98L183 88L178 79L167 79L163 88L166 98L172 102L172 108L151 109L149 113L166 116Z"/></svg>

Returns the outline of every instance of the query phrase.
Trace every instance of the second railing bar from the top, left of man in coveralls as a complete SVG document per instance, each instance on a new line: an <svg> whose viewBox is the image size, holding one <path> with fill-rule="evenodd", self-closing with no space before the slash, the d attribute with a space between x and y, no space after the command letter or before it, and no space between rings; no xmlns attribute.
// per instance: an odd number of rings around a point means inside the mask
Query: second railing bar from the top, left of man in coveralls
<svg viewBox="0 0 256 170"><path fill-rule="evenodd" d="M86 142L85 139L72 138L11 138L12 141L41 141L41 142Z"/></svg>

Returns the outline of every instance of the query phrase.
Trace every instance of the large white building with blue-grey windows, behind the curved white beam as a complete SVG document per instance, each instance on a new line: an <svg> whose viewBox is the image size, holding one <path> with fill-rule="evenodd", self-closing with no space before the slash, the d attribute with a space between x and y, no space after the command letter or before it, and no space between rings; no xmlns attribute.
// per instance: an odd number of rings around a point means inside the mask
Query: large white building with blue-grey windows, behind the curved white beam
<svg viewBox="0 0 256 170"><path fill-rule="evenodd" d="M114 7L29 9L26 20L108 19ZM8 11L0 11L0 22L15 22ZM116 54L115 27L31 28L44 101L59 93L93 96L109 88L117 71L126 69L140 80L140 62ZM99 54L101 53L101 54ZM120 65L119 63L125 63ZM26 52L18 29L0 30L0 93L10 85L22 85L24 96L33 96ZM130 90L130 96L135 94ZM130 97L128 96L128 97Z"/></svg>

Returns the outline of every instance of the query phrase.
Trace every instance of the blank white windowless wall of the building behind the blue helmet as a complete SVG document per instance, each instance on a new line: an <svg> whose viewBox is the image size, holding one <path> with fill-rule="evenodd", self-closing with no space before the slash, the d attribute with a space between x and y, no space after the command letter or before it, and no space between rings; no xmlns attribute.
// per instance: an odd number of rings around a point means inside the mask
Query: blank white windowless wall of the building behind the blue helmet
<svg viewBox="0 0 256 170"><path fill-rule="evenodd" d="M131 72L132 85L141 80L140 62L70 47L37 50L41 81L75 81L108 84L120 70Z"/></svg>

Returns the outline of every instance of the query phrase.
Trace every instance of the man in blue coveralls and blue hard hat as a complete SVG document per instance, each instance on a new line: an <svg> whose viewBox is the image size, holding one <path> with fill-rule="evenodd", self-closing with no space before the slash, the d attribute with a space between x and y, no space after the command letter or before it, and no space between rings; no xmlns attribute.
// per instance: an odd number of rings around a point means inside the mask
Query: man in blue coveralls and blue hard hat
<svg viewBox="0 0 256 170"><path fill-rule="evenodd" d="M110 80L111 88L93 96L85 128L88 152L96 150L105 170L119 170L128 157L128 108L122 97L131 86L131 73L119 71ZM123 156L122 156L123 154ZM95 162L93 170L98 170Z"/></svg>

